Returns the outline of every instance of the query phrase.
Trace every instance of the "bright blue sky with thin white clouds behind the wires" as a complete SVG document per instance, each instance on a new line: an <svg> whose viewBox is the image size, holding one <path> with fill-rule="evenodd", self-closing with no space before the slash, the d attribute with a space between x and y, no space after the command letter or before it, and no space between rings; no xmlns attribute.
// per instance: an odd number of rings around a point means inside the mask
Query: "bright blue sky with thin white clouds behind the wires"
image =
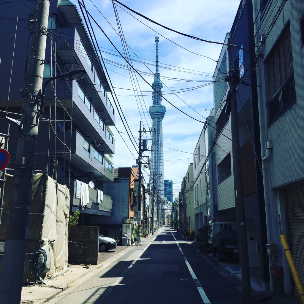
<svg viewBox="0 0 304 304"><path fill-rule="evenodd" d="M73 2L76 4L75 0ZM217 42L223 42L226 33L230 31L240 4L240 0L168 0L164 2L121 0L121 2L171 29ZM124 53L120 37L116 33L118 26L112 1L85 0L85 6L115 47ZM129 47L133 67L140 72L146 81L152 84L155 72L154 37L159 36L159 72L164 86L163 96L189 116L205 121L213 107L211 83L216 67L214 60L218 59L222 46L181 36L155 25L125 8L122 9L120 5L116 5L116 10L124 40ZM80 10L79 12L81 13ZM140 121L146 130L152 126L150 116L147 113L147 109L152 105L152 90L134 72L135 81L130 80L126 61L120 58L102 31L95 25L93 27L99 46L102 47L102 56L123 115L138 143ZM137 57L145 64L140 62ZM191 89L198 86L199 88ZM133 88L136 90L135 92ZM171 90L174 92L187 91L172 94ZM135 97L134 95L140 96ZM203 124L181 113L164 99L162 104L166 107L163 120L164 178L173 181L173 196L176 197L180 191L182 178L192 162L192 153ZM116 127L123 137L122 139L115 127L111 128L115 135L114 167L131 167L136 164L133 155L137 157L138 154L126 135L127 132L115 105L114 109L116 111ZM130 133L129 130L128 132ZM149 133L147 133L147 138L150 138ZM148 154L146 153L146 155ZM147 169L145 170L148 172ZM146 177L146 181L149 182L148 177Z"/></svg>

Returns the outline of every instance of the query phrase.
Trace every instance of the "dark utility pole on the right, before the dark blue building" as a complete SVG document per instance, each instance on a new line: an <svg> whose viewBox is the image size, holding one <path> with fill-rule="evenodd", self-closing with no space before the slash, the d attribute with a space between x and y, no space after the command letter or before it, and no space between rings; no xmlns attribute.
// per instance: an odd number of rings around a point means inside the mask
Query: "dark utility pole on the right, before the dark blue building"
<svg viewBox="0 0 304 304"><path fill-rule="evenodd" d="M245 226L245 206L242 180L242 167L240 155L240 138L237 117L237 95L236 88L239 83L239 71L233 69L230 38L228 38L228 60L229 72L226 80L229 82L229 95L231 102L231 133L232 133L232 153L233 172L235 188L235 205L237 213L237 237L239 246L240 268L242 276L243 296L246 301L251 301L251 284L249 272L249 257L247 246L247 232Z"/></svg>

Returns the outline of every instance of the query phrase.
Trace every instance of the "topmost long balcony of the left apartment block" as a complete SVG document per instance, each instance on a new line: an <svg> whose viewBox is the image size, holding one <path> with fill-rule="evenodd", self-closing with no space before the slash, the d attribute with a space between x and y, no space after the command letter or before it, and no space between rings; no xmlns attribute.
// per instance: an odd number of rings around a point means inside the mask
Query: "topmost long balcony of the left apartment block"
<svg viewBox="0 0 304 304"><path fill-rule="evenodd" d="M106 92L110 91L109 88L104 88L104 86L108 86L107 80L105 76L101 74L101 71L98 72L95 69L91 57L94 51L92 49L85 49L84 43L81 42L81 37L74 27L62 27L60 31L63 36L69 37L69 39L66 43L58 42L56 44L57 56L59 56L63 62L75 62L76 59L78 67L85 69L87 79L80 81L80 86L88 96L91 96L91 103L101 119L109 126L115 125L115 111L106 94ZM54 33L56 34L56 32L58 32L58 35L61 35L59 29L55 29ZM85 43L87 48L88 45L88 43ZM100 69L99 66L98 69Z"/></svg>

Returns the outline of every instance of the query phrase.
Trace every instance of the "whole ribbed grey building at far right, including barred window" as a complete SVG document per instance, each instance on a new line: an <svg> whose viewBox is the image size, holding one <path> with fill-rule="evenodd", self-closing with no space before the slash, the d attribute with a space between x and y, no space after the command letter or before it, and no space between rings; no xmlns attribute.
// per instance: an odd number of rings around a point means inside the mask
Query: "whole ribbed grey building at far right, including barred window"
<svg viewBox="0 0 304 304"><path fill-rule="evenodd" d="M280 235L304 282L304 3L253 1L261 159L271 266L285 294L298 295ZM272 278L271 278L272 279ZM275 288L275 284L273 284Z"/></svg>

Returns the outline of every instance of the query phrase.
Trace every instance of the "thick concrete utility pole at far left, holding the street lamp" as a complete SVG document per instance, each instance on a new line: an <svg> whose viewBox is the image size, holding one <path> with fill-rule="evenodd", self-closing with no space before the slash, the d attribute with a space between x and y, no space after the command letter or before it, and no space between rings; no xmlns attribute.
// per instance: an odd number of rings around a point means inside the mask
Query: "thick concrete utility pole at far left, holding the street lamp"
<svg viewBox="0 0 304 304"><path fill-rule="evenodd" d="M31 40L16 154L12 198L0 278L1 302L20 303L29 209L33 188L39 102L47 41L50 0L36 0L31 24Z"/></svg>

